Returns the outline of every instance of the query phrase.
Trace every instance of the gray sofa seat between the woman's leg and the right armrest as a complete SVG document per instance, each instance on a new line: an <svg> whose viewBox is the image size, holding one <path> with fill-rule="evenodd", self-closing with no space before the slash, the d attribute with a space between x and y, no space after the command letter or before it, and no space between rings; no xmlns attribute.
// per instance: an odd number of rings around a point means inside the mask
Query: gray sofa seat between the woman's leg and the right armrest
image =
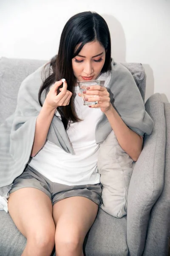
<svg viewBox="0 0 170 256"><path fill-rule="evenodd" d="M126 217L114 218L99 209L85 239L86 256L127 256Z"/></svg>

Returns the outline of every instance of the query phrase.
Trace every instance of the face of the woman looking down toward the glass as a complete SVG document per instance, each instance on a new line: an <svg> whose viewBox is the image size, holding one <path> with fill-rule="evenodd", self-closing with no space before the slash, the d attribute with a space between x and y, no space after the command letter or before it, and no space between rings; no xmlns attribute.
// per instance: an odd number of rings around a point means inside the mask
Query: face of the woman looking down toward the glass
<svg viewBox="0 0 170 256"><path fill-rule="evenodd" d="M105 64L105 48L98 41L84 45L79 54L72 59L74 76L78 81L94 80Z"/></svg>

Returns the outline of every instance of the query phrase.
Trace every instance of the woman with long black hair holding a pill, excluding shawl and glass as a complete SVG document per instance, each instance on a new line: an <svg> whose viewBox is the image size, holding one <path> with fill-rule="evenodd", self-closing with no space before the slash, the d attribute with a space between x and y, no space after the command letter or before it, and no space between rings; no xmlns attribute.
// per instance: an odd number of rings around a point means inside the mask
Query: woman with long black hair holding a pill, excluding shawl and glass
<svg viewBox="0 0 170 256"><path fill-rule="evenodd" d="M62 31L57 57L45 66L44 72L49 74L39 91L42 108L36 120L31 160L14 180L8 199L11 218L27 239L22 256L50 256L54 244L57 256L83 256L83 241L96 218L102 193L95 138L101 118L107 118L119 144L134 161L142 151L144 133L130 129L111 104L107 84L112 65L105 20L92 12L71 17ZM84 106L77 81L103 77L105 87L92 86L85 91L86 101L95 95L91 101L98 104ZM141 102L139 97L144 112ZM62 121L72 154L47 139L54 119Z"/></svg>

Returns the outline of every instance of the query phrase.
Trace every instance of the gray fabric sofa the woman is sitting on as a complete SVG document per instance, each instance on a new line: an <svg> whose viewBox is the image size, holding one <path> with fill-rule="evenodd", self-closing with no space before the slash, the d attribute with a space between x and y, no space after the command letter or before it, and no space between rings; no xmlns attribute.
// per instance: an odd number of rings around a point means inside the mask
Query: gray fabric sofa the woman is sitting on
<svg viewBox="0 0 170 256"><path fill-rule="evenodd" d="M0 123L14 112L23 79L45 61L0 59ZM144 99L146 76L141 64L124 63ZM132 92L133 97L133 92ZM170 231L170 104L152 95L145 104L154 128L134 165L127 216L114 218L99 209L86 236L86 256L165 256ZM0 211L0 256L20 256L26 245L11 217ZM53 253L54 254L54 253Z"/></svg>

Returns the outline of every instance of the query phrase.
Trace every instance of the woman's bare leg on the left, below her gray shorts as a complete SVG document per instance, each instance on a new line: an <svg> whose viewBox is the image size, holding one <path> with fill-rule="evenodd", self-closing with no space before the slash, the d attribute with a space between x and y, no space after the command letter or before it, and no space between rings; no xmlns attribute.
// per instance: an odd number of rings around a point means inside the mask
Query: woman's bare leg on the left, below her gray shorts
<svg viewBox="0 0 170 256"><path fill-rule="evenodd" d="M8 199L8 210L27 239L22 256L50 256L55 237L50 198L39 189L18 189Z"/></svg>

